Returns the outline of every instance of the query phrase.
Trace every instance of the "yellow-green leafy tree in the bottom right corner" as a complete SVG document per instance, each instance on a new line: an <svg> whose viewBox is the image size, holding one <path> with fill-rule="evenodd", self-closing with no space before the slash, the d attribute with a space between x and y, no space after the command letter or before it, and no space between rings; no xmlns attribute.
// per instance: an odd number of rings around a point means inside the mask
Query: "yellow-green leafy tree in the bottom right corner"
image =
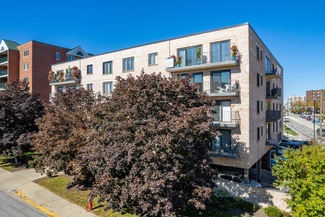
<svg viewBox="0 0 325 217"><path fill-rule="evenodd" d="M276 159L272 174L276 186L289 186L286 199L294 216L325 216L325 149L303 145L301 150L284 152L286 161Z"/></svg>

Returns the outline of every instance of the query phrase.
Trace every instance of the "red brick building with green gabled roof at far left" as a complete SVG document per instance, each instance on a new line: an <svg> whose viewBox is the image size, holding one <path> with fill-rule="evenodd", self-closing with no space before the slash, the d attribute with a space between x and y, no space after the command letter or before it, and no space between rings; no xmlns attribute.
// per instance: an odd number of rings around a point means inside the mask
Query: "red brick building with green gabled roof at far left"
<svg viewBox="0 0 325 217"><path fill-rule="evenodd" d="M80 46L68 49L38 41L19 45L17 42L2 40L0 44L0 89L8 80L27 80L32 93L41 93L40 98L49 102L51 86L48 72L52 64L89 57Z"/></svg>

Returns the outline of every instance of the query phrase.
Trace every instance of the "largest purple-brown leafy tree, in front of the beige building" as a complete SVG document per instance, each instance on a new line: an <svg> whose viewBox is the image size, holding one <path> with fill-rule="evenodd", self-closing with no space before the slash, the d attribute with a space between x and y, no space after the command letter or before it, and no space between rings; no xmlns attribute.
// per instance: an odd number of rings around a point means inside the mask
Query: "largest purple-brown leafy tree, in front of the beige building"
<svg viewBox="0 0 325 217"><path fill-rule="evenodd" d="M97 114L103 135L89 158L96 182L90 196L105 209L130 207L149 216L179 214L185 207L204 209L215 187L207 94L185 79L145 74L116 78L110 98ZM88 153L90 153L88 155Z"/></svg>

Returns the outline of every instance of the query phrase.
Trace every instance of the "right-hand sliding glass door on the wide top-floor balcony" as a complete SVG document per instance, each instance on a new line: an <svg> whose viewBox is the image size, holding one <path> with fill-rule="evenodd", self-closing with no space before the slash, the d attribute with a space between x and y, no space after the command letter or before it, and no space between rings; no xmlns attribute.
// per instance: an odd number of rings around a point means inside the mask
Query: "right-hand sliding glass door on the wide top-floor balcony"
<svg viewBox="0 0 325 217"><path fill-rule="evenodd" d="M211 44L211 63L230 61L230 41Z"/></svg>

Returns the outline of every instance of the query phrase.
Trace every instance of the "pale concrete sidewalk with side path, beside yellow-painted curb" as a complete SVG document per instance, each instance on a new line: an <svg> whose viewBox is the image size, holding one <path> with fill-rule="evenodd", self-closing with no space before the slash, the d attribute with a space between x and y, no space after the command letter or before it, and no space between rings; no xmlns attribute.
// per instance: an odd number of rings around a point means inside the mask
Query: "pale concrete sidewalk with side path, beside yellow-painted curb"
<svg viewBox="0 0 325 217"><path fill-rule="evenodd" d="M94 213L68 200L54 194L42 186L32 182L46 177L36 173L34 169L24 169L16 172L9 172L0 168L0 190L15 194L20 190L21 194L38 205L50 210L60 217L95 217Z"/></svg>

